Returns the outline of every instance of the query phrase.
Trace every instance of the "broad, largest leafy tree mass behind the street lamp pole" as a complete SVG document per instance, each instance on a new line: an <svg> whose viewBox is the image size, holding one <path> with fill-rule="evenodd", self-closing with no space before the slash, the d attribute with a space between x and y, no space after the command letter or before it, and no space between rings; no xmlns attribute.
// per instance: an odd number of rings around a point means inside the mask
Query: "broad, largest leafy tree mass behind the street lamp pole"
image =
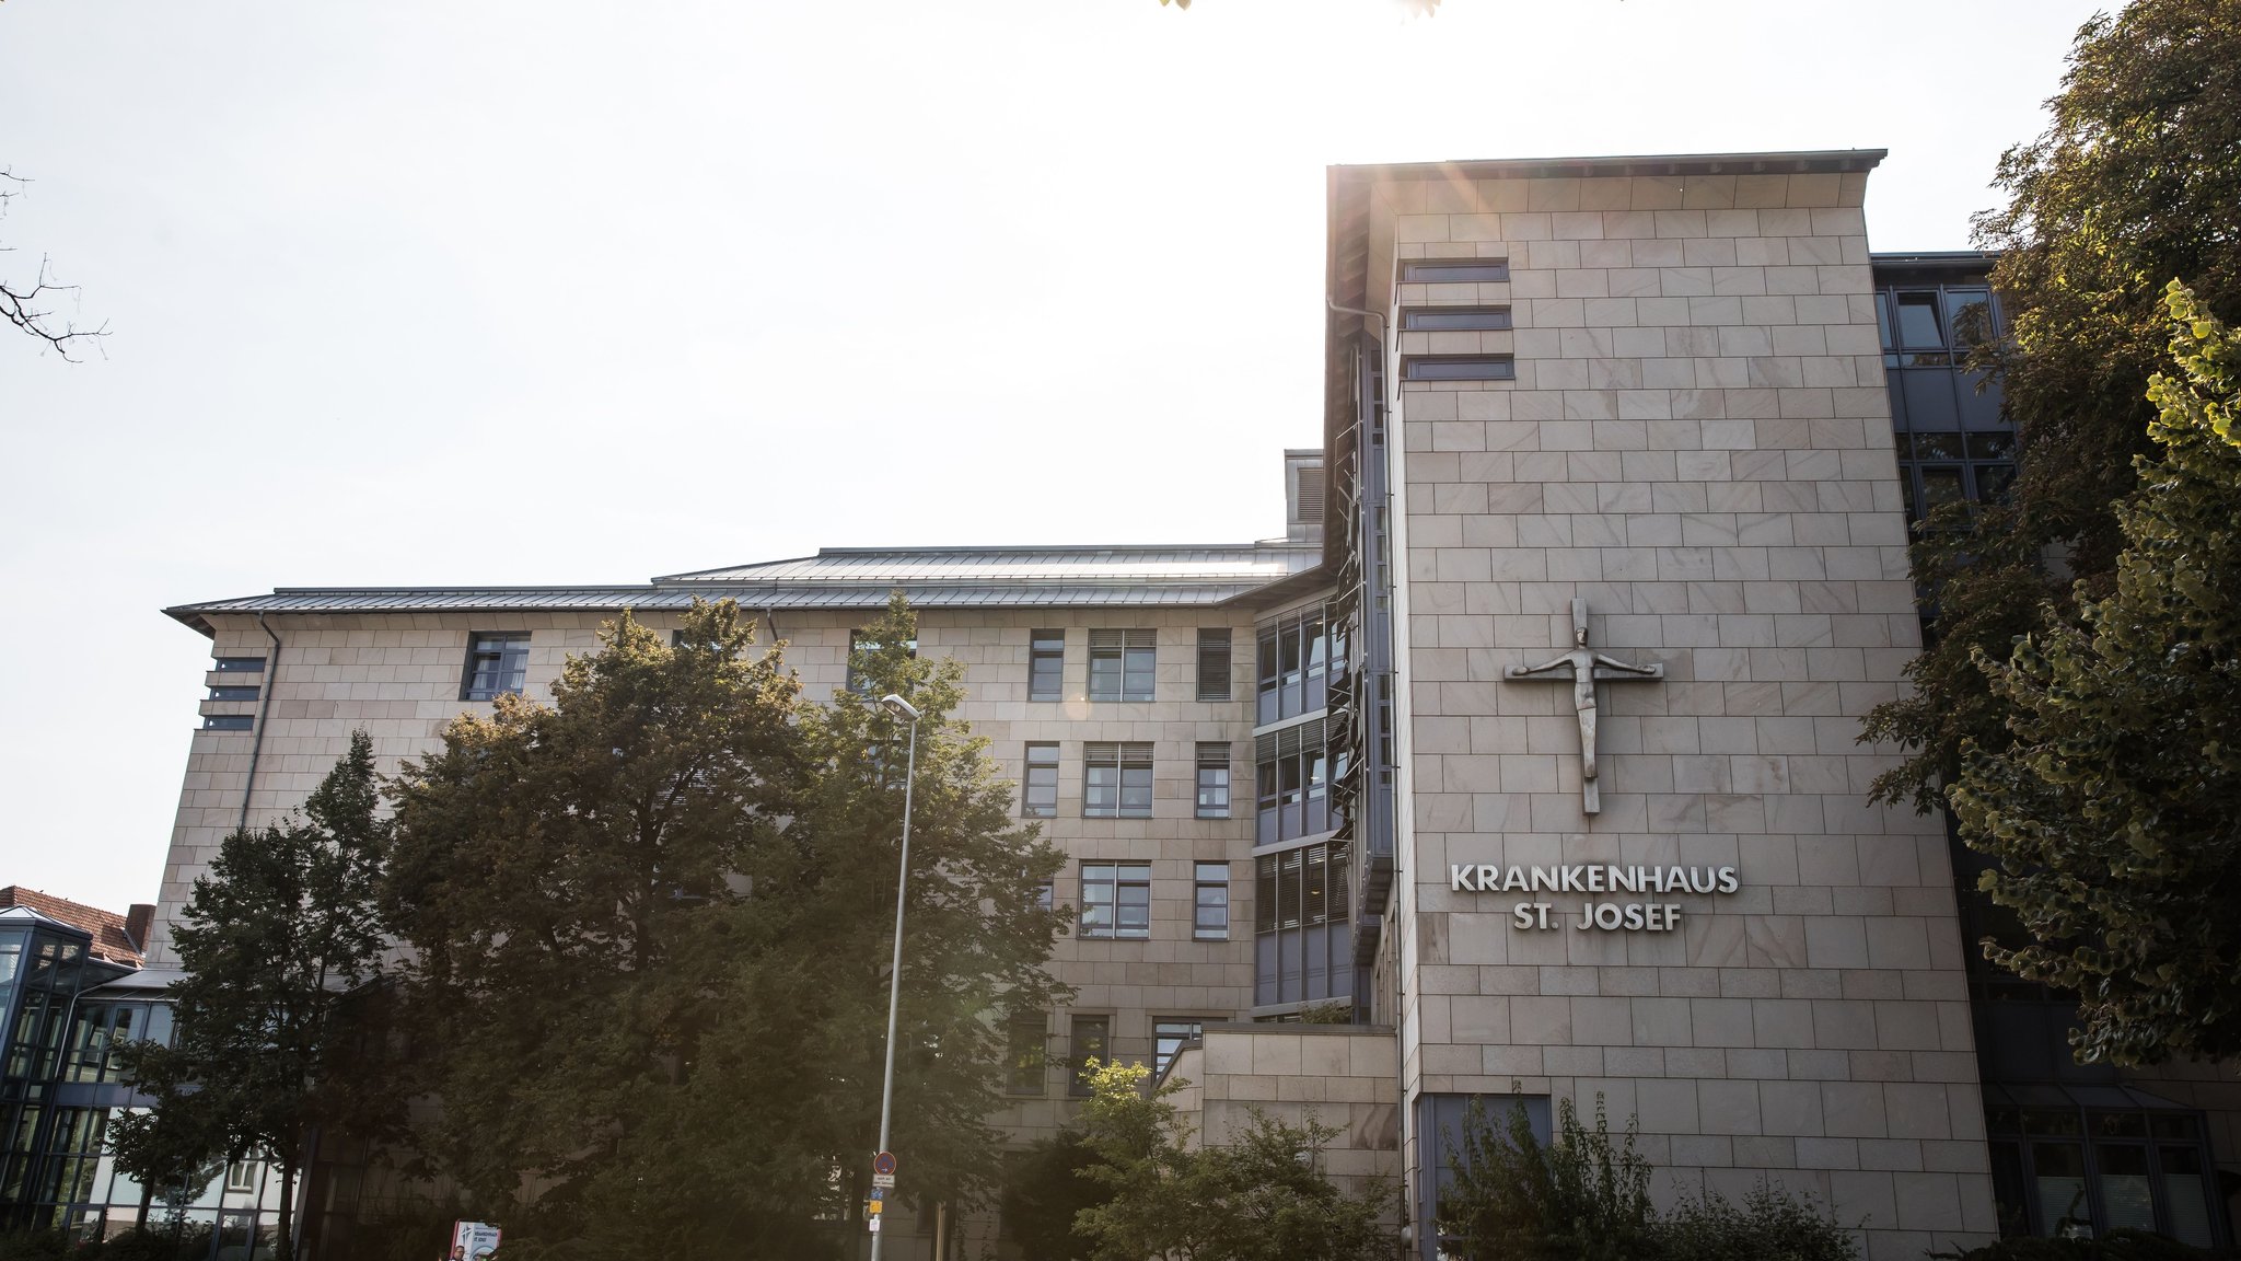
<svg viewBox="0 0 2241 1261"><path fill-rule="evenodd" d="M854 678L919 725L894 1149L905 1194L993 1185L991 1019L1049 1005L1058 855L950 718L896 601ZM811 1257L878 1126L908 729L811 705L731 604L627 615L554 702L464 716L397 783L392 902L435 1066L437 1162L509 1252ZM854 1239L854 1234L849 1236Z"/></svg>

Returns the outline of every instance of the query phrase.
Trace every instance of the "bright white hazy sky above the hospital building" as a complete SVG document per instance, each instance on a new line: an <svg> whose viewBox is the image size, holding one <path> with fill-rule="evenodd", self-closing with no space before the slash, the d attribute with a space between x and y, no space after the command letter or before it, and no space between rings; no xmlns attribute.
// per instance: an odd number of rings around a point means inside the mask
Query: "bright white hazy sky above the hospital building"
<svg viewBox="0 0 2241 1261"><path fill-rule="evenodd" d="M2089 0L4 0L0 884L152 900L159 608L1282 530L1331 162L1889 148L1956 249Z"/></svg>

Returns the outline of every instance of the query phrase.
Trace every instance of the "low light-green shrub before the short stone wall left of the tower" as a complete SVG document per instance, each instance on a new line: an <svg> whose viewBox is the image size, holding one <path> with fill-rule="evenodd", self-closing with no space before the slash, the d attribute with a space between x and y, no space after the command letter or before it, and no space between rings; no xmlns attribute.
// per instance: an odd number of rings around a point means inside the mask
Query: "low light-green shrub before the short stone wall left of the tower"
<svg viewBox="0 0 2241 1261"><path fill-rule="evenodd" d="M1304 1126L1253 1111L1221 1147L1192 1147L1170 1095L1145 1090L1143 1064L1089 1066L1082 1140L1098 1156L1087 1176L1112 1198L1080 1212L1076 1234L1096 1261L1369 1261L1392 1257L1383 1182L1340 1191L1320 1171L1336 1126Z"/></svg>

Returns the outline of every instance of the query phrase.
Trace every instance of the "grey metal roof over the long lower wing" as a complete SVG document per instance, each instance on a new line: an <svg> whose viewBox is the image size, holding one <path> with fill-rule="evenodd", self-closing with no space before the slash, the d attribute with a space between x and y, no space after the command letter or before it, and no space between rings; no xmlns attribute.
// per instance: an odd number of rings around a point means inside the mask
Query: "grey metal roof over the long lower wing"
<svg viewBox="0 0 2241 1261"><path fill-rule="evenodd" d="M217 613L502 613L688 608L737 599L751 608L878 608L901 590L919 608L1208 606L1311 570L1313 545L1212 547L827 547L648 586L520 588L278 588L182 604L164 613L211 633Z"/></svg>

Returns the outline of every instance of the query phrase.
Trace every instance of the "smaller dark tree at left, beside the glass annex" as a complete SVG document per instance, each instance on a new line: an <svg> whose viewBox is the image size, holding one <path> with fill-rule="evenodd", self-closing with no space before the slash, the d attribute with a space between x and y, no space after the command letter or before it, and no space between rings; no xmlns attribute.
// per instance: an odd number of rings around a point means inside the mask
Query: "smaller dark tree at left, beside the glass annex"
<svg viewBox="0 0 2241 1261"><path fill-rule="evenodd" d="M365 1055L381 1034L368 1028L385 945L379 806L372 740L356 731L303 817L226 837L173 927L186 976L168 992L170 1046L121 1052L155 1106L114 1122L119 1165L170 1187L211 1158L271 1160L282 1257L314 1135L381 1135L397 1115L379 1057Z"/></svg>

